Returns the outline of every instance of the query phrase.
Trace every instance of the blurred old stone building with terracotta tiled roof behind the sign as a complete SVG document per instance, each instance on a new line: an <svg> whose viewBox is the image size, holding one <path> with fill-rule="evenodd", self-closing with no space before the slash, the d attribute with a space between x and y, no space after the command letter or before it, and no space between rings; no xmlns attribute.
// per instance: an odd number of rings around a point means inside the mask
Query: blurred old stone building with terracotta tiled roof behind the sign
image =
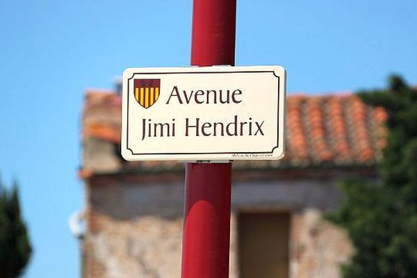
<svg viewBox="0 0 417 278"><path fill-rule="evenodd" d="M124 161L120 110L115 92L85 95L83 277L180 277L183 164ZM386 113L354 95L290 95L287 115L283 160L234 163L231 278L337 278L352 254L322 216L339 179L375 177Z"/></svg>

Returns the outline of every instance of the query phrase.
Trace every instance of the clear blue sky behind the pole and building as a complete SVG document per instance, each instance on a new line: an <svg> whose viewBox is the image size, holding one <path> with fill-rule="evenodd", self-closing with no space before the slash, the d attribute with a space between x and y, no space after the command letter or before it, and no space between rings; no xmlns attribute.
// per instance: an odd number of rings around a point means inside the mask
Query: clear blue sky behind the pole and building
<svg viewBox="0 0 417 278"><path fill-rule="evenodd" d="M84 206L87 88L126 67L188 65L191 0L0 1L0 174L20 184L34 254L26 277L79 277L67 225ZM417 84L417 1L238 0L236 65L283 65L288 92Z"/></svg>

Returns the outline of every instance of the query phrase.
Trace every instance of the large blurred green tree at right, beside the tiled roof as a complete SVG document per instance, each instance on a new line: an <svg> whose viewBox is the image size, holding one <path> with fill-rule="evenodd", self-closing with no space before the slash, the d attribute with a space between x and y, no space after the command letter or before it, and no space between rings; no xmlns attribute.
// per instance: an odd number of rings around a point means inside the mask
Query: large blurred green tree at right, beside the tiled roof
<svg viewBox="0 0 417 278"><path fill-rule="evenodd" d="M347 229L356 249L343 277L417 277L417 91L391 76L386 90L359 96L386 109L389 134L379 181L343 181L345 199L329 215Z"/></svg>

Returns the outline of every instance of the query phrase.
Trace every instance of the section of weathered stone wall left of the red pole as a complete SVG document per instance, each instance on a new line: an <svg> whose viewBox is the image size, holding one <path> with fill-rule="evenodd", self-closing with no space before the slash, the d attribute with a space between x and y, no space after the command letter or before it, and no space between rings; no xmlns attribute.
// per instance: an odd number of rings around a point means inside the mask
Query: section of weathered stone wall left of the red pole
<svg viewBox="0 0 417 278"><path fill-rule="evenodd" d="M85 277L179 277L182 196L179 183L89 187Z"/></svg>

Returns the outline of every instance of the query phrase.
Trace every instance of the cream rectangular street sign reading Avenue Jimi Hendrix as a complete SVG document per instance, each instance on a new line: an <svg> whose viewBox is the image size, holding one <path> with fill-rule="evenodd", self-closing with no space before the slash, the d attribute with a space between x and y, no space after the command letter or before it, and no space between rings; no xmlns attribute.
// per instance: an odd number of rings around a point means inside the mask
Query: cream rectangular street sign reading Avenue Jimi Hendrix
<svg viewBox="0 0 417 278"><path fill-rule="evenodd" d="M283 67L129 68L122 156L128 161L284 156Z"/></svg>

